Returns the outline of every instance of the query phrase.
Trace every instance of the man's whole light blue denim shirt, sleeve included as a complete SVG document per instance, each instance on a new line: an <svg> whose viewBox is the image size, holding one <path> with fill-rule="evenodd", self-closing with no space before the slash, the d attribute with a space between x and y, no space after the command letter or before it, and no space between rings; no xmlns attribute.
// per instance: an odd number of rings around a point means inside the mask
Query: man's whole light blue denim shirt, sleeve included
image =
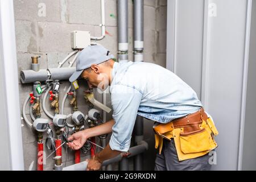
<svg viewBox="0 0 256 182"><path fill-rule="evenodd" d="M110 84L113 107L110 148L128 151L138 115L168 123L200 110L195 91L159 65L144 62L114 63Z"/></svg>

